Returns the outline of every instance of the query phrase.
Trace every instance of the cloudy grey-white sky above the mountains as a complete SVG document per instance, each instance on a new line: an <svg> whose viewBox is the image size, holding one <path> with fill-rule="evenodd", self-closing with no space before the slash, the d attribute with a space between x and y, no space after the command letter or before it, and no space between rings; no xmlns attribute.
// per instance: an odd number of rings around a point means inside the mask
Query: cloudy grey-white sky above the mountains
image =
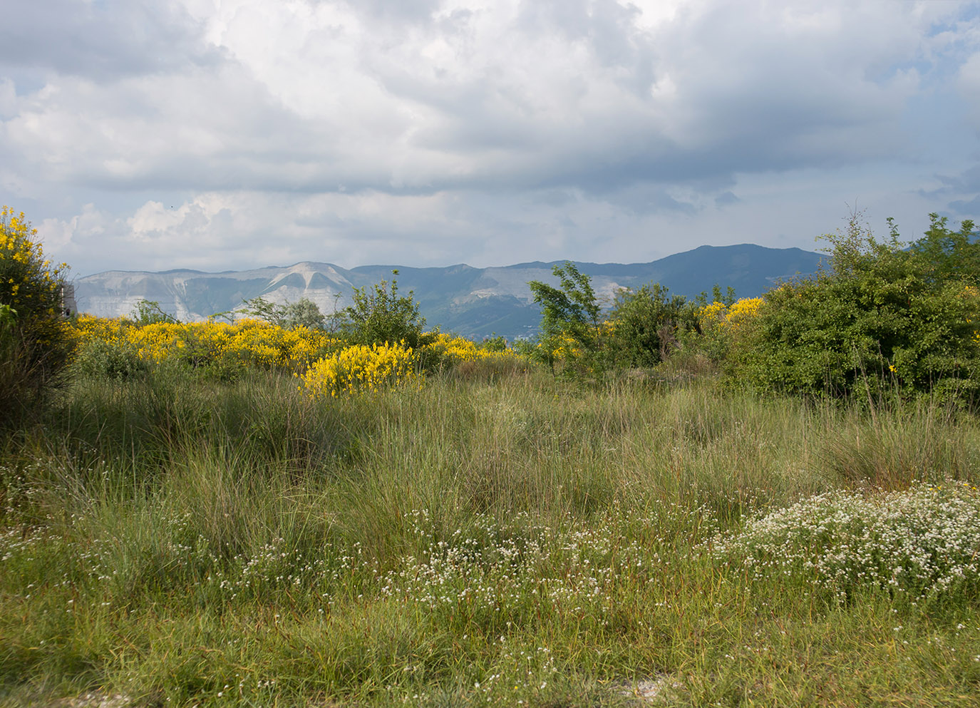
<svg viewBox="0 0 980 708"><path fill-rule="evenodd" d="M6 0L0 203L74 277L817 250L980 221L980 2Z"/></svg>

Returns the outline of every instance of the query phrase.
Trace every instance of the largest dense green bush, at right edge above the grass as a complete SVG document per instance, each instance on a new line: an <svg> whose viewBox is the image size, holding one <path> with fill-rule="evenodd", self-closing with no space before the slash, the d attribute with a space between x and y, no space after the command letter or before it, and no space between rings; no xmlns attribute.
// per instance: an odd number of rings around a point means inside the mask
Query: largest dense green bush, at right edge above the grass
<svg viewBox="0 0 980 708"><path fill-rule="evenodd" d="M878 396L891 391L969 398L980 385L977 259L964 223L933 219L905 248L891 224L878 241L852 217L830 234L832 270L765 294L758 327L731 353L739 379L787 391Z"/></svg>

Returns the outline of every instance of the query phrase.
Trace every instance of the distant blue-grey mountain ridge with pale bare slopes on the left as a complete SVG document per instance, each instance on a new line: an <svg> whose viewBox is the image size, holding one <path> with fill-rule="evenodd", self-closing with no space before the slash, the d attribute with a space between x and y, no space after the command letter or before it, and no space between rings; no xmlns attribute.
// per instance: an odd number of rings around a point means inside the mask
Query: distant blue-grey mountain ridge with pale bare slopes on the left
<svg viewBox="0 0 980 708"><path fill-rule="evenodd" d="M651 263L575 263L592 278L599 298L612 304L623 287L660 282L672 294L695 297L731 286L739 297L760 295L780 279L814 273L819 253L800 248L766 248L751 243L700 246ZM262 296L272 302L295 302L302 297L324 313L351 304L354 287L382 279L398 270L400 292L415 291L429 328L439 326L469 337L503 334L508 338L533 334L541 320L528 280L557 283L552 267L564 261L519 263L514 266L444 268L359 266L350 270L329 263L297 263L249 271L204 273L176 269L163 273L108 271L74 281L81 312L120 317L142 299L154 300L182 321L204 320L215 313L239 308L243 300Z"/></svg>

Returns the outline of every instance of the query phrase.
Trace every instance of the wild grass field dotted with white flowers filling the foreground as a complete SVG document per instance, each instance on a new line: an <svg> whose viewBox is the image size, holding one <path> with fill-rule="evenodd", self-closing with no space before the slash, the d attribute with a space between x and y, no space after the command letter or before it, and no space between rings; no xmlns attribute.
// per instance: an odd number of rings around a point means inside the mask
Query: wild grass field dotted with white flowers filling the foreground
<svg viewBox="0 0 980 708"><path fill-rule="evenodd" d="M0 705L980 705L974 417L470 374L75 381L3 441Z"/></svg>

